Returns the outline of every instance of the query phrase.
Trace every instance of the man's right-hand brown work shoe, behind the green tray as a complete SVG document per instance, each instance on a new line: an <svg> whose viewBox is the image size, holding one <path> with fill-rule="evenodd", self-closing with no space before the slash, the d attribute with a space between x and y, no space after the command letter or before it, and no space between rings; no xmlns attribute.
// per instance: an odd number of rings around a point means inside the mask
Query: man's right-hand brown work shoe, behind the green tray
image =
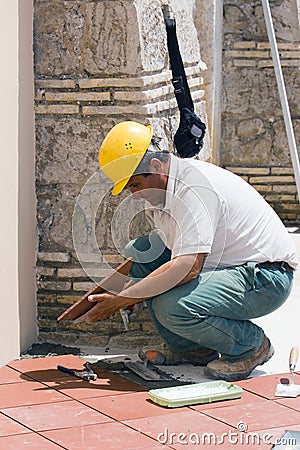
<svg viewBox="0 0 300 450"><path fill-rule="evenodd" d="M209 378L225 381L244 380L250 375L256 366L261 366L267 362L274 354L269 339L265 336L262 345L249 358L243 361L224 361L222 357L207 364L204 368L204 375Z"/></svg>

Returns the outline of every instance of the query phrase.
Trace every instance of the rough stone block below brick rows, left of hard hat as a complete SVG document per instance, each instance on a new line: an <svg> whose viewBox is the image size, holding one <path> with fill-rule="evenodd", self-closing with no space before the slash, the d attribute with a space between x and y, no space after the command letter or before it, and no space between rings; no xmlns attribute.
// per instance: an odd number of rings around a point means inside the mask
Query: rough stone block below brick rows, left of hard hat
<svg viewBox="0 0 300 450"><path fill-rule="evenodd" d="M98 169L99 138L110 125L78 117L36 117L37 183L82 186Z"/></svg>

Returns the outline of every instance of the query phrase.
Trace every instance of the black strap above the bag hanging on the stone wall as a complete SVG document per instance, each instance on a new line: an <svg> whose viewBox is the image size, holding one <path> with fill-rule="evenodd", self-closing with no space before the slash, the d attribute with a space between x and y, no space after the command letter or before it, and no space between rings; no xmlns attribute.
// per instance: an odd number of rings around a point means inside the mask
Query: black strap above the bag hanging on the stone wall
<svg viewBox="0 0 300 450"><path fill-rule="evenodd" d="M167 30L167 45L173 76L172 83L174 87L174 94L178 103L178 108L180 109L180 111L183 108L194 111L194 104L179 50L175 19L165 18L165 24Z"/></svg>

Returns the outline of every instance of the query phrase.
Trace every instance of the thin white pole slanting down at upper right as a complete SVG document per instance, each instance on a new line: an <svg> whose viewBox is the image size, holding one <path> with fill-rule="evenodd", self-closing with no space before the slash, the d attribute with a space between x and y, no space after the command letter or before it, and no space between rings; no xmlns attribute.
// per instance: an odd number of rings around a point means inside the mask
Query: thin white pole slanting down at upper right
<svg viewBox="0 0 300 450"><path fill-rule="evenodd" d="M270 47L271 47L274 68L275 68L275 75L276 75L276 80L277 80L277 85L278 85L281 107L282 107L282 111L283 111L283 118L284 118L284 123L285 123L287 139L288 139L288 145L289 145L289 149L290 149L290 154L291 154L291 159L292 159L292 164L293 164L293 169L294 169L294 174L295 174L295 181L296 181L296 186L297 186L297 191L298 191L298 199L300 201L299 156L298 156L298 152L297 152L296 140L295 140L293 125L292 125L292 119L291 119L284 79L283 79L282 70L281 70L279 52L278 52L273 22L272 22L269 0L262 0L262 6L263 6L265 22L266 22L266 26L267 26L267 32L268 32L268 37L269 37L269 42L270 42Z"/></svg>

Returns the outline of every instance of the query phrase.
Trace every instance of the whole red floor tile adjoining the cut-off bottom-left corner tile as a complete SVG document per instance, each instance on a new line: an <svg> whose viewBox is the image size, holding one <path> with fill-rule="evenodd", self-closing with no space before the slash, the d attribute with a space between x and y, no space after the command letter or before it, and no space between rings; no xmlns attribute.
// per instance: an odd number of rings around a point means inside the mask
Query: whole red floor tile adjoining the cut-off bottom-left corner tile
<svg viewBox="0 0 300 450"><path fill-rule="evenodd" d="M109 417L75 400L8 408L3 409L2 412L33 431L77 427L112 421Z"/></svg>

